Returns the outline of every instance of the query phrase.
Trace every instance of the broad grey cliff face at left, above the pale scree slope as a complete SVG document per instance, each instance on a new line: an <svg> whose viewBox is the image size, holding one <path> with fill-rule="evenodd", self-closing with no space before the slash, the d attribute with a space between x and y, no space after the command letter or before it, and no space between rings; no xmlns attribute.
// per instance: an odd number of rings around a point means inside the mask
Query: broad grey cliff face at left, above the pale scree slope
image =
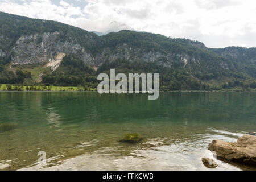
<svg viewBox="0 0 256 182"><path fill-rule="evenodd" d="M71 37L62 39L59 32L22 35L10 51L14 64L52 63L61 61L60 55L73 53L92 65L92 56Z"/></svg>

